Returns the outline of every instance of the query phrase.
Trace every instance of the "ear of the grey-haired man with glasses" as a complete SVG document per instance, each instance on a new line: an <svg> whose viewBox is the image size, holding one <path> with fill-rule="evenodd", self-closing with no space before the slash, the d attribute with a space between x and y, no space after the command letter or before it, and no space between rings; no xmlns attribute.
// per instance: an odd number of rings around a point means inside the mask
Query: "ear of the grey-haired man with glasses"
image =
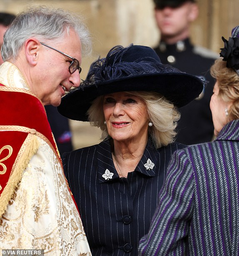
<svg viewBox="0 0 239 256"><path fill-rule="evenodd" d="M36 65L40 50L40 42L36 38L28 38L24 43L25 55L30 65Z"/></svg>

